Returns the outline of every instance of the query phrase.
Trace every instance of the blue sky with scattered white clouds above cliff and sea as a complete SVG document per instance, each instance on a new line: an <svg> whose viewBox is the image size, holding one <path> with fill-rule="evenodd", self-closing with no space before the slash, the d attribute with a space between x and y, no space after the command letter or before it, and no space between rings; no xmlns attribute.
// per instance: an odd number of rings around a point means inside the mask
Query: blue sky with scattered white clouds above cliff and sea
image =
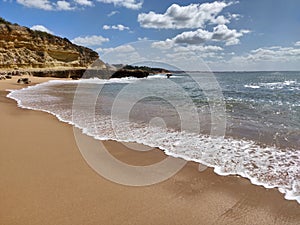
<svg viewBox="0 0 300 225"><path fill-rule="evenodd" d="M299 0L0 0L0 16L66 37L107 63L300 70Z"/></svg>

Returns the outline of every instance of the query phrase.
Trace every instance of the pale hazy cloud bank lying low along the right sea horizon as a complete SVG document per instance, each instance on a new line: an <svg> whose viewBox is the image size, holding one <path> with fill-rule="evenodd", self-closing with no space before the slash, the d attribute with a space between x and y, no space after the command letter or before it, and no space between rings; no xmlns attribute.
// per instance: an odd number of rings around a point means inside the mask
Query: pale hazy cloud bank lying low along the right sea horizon
<svg viewBox="0 0 300 225"><path fill-rule="evenodd" d="M211 70L299 70L300 48L262 47L243 55L225 53L218 46L175 46L167 50L165 56L183 68L200 63L201 60Z"/></svg>

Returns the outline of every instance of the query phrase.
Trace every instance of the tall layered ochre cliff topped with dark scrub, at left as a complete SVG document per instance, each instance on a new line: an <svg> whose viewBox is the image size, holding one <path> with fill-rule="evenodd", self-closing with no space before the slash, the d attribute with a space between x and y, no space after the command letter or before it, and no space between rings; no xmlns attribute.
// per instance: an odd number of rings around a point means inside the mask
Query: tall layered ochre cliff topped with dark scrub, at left
<svg viewBox="0 0 300 225"><path fill-rule="evenodd" d="M88 67L98 57L66 38L0 21L0 69Z"/></svg>

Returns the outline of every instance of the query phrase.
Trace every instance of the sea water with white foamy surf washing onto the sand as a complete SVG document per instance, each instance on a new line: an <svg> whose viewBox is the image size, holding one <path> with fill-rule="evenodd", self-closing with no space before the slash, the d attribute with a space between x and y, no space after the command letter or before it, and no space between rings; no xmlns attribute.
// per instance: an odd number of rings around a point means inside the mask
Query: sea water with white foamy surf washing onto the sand
<svg viewBox="0 0 300 225"><path fill-rule="evenodd" d="M159 147L300 203L300 72L50 81L8 97L96 139Z"/></svg>

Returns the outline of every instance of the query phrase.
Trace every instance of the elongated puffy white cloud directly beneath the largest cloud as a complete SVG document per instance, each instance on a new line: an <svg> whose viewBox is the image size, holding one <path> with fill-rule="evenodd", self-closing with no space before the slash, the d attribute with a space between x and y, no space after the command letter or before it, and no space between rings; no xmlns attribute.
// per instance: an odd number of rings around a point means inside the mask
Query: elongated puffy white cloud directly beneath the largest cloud
<svg viewBox="0 0 300 225"><path fill-rule="evenodd" d="M248 30L237 31L229 29L225 24L217 25L213 31L198 29L195 31L186 31L178 34L172 39L155 42L153 47L170 48L176 44L184 45L202 45L206 42L225 42L225 45L236 45L240 43L239 38L249 33Z"/></svg>

